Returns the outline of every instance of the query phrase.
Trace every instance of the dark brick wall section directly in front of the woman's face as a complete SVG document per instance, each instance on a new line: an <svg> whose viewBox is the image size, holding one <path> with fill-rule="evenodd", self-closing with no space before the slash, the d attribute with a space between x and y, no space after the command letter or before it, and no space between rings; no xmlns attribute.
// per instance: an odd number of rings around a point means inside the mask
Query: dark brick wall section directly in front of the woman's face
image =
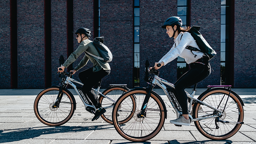
<svg viewBox="0 0 256 144"><path fill-rule="evenodd" d="M173 38L161 28L164 21L177 15L177 0L140 1L140 86L145 87L143 73L145 62L149 60L150 67L155 65L173 45ZM173 60L160 69L159 77L175 83L177 80L177 60Z"/></svg>

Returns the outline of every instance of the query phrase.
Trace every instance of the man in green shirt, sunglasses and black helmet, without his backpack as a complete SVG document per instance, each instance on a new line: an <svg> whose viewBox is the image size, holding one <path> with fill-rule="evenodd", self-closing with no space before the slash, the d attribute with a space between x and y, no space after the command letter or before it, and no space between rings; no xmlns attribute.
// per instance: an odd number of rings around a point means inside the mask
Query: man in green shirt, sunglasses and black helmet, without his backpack
<svg viewBox="0 0 256 144"><path fill-rule="evenodd" d="M58 68L58 72L63 72L65 68L67 68L70 64L72 64L77 59L77 57L80 56L85 51L88 51L96 56L101 56L97 51L97 49L95 48L92 41L89 40L91 36L91 31L89 29L79 28L75 34L76 34L77 42L80 44L76 49L76 51L71 53L68 59L65 61L65 63L61 67L59 67L62 70L59 70ZM103 113L105 113L106 110L105 108L101 107L98 97L93 92L92 87L98 84L104 76L107 76L110 73L110 66L108 62L99 60L85 53L84 58L80 61L77 67L74 68L74 70L71 70L70 72L75 74L76 71L78 71L80 68L83 68L89 60L93 63L93 67L80 72L78 77L84 84L82 88L83 93L89 97L89 99L92 101L95 108L97 108L97 111L95 112L95 116L92 118L92 121L94 121L95 119L100 117Z"/></svg>

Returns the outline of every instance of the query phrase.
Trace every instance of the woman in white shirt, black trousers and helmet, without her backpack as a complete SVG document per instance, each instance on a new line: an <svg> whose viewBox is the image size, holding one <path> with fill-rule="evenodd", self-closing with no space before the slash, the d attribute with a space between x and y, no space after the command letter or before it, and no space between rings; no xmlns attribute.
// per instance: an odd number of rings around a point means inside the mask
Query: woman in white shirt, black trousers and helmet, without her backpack
<svg viewBox="0 0 256 144"><path fill-rule="evenodd" d="M159 69L176 59L178 56L184 58L186 63L189 64L190 70L182 75L174 84L182 108L182 116L170 121L172 124L189 126L191 120L188 117L188 97L185 89L208 77L211 73L211 66L204 53L198 51L192 52L186 49L187 45L198 49L199 47L197 46L195 39L188 32L190 27L182 28L181 26L182 21L179 17L170 17L164 22L162 28L166 28L168 36L174 38L174 44L171 50L167 52L159 62L155 63L154 68ZM157 64L159 63L161 66L157 67Z"/></svg>

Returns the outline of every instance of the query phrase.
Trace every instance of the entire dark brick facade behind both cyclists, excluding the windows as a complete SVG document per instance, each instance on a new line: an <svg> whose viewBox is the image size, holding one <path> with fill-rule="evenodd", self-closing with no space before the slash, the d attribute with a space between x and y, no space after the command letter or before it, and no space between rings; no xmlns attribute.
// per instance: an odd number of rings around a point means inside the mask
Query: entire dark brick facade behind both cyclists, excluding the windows
<svg viewBox="0 0 256 144"><path fill-rule="evenodd" d="M69 2L51 1L51 63L45 63L45 8L44 0L18 0L17 1L17 46L11 46L11 2L3 1L0 4L0 84L2 89L42 89L47 87L45 78L46 68L51 67L51 84L58 85L55 73L59 67L60 55L66 60L69 56L68 49L76 50L78 43L73 34L78 28L85 27L94 32L94 1L73 1L73 20L68 19ZM255 0L231 0L234 5L234 87L256 88L255 73ZM70 4L69 4L70 5ZM69 11L68 11L69 10ZM71 9L72 10L72 9ZM15 12L15 11L14 11ZM149 60L153 66L172 47L173 38L169 38L165 29L161 28L164 20L177 15L177 0L140 0L140 86L145 86L143 72L145 61ZM200 82L198 87L220 84L220 0L191 1L190 11L191 26L201 26L200 32L212 48L218 53L211 61L214 71ZM48 20L49 21L49 20ZM12 23L13 24L13 23ZM73 25L73 32L68 31L68 26ZM72 34L71 34L72 33ZM73 35L73 44L70 36ZM15 35L14 35L15 36ZM113 54L110 62L111 73L104 77L102 88L108 84L128 84L133 87L133 1L107 0L100 1L100 36L105 37L105 44ZM13 38L13 34L12 34ZM69 40L69 41L68 41ZM72 40L72 38L71 38ZM232 42L232 41L231 41ZM231 44L231 45L232 45ZM68 47L73 45L73 48ZM17 64L12 50L15 50ZM14 48L14 49L13 49ZM12 57L11 57L12 56ZM73 68L84 57L82 54ZM78 73L92 67L88 62L73 77L77 80ZM177 80L176 60L160 69L160 77L174 83ZM15 68L17 70L15 70ZM13 75L17 71L17 77ZM56 75L58 78L58 75ZM16 79L16 80L15 80ZM14 80L14 81L13 81ZM11 81L17 86L13 86Z"/></svg>

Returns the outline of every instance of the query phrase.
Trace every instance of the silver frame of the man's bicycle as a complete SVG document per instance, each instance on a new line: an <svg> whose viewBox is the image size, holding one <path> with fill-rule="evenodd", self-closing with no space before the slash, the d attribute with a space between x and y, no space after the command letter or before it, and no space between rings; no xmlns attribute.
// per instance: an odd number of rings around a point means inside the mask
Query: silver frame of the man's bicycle
<svg viewBox="0 0 256 144"><path fill-rule="evenodd" d="M85 98L83 98L83 97L85 97L86 95L85 95L85 96L82 96L82 95L80 94L80 92L78 92L78 90L77 90L77 88L76 88L76 85L75 85L73 82L74 82L74 83L77 83L77 84L80 84L80 85L82 85L82 86L84 85L83 83L78 82L77 80L72 79L72 78L70 78L70 77L67 76L66 81L65 81L65 84L69 84L69 85L71 85L71 86L75 89L76 93L78 94L78 96L80 97L80 99L83 101L85 108L89 106L89 107L94 108L94 111L96 111L95 106L89 104L89 103L92 103L92 102L91 102L91 101L88 102L88 101L86 101ZM97 89L93 89L93 88L92 88L92 90L93 90L94 92L96 92L96 95L100 94L100 95L103 96L104 98L107 98L108 100L112 101L113 103L116 103L115 100L112 100L112 99L109 98L108 96L105 96L104 94L102 94L101 92L99 92L100 86L99 86ZM87 97L87 96L86 96L86 97ZM87 97L87 100L90 100L90 99ZM104 107L104 108L105 108L105 109L108 109L108 108L113 108L113 107L114 107L114 106L108 106L108 107Z"/></svg>

